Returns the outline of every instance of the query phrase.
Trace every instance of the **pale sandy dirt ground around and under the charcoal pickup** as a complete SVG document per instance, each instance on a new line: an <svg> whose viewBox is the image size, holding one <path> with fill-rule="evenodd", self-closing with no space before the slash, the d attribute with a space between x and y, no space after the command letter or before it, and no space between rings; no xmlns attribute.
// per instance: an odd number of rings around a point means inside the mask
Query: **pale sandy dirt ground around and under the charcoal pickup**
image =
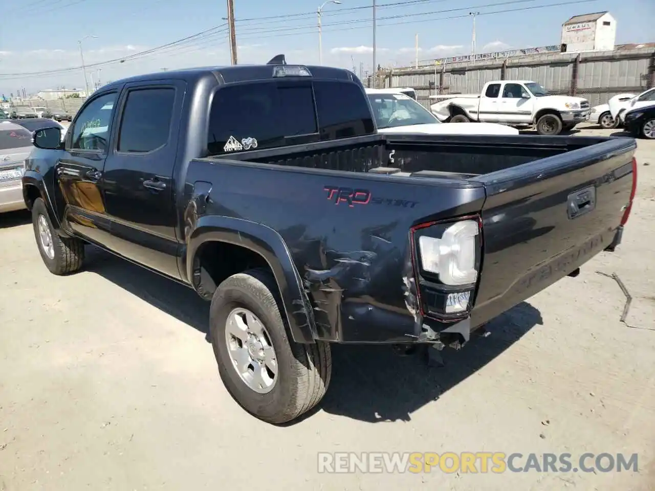
<svg viewBox="0 0 655 491"><path fill-rule="evenodd" d="M580 134L609 134L583 130ZM26 213L0 215L0 491L655 489L655 142L624 242L428 368L334 346L320 409L240 409L195 293L107 253L61 278ZM626 323L625 297L633 297ZM639 473L318 473L317 452L638 454Z"/></svg>

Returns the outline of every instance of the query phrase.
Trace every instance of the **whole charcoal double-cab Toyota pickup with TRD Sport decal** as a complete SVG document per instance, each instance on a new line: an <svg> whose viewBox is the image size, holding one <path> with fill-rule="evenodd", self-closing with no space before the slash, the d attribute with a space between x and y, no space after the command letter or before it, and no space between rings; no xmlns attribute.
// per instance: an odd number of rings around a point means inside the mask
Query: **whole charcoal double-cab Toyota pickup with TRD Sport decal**
<svg viewBox="0 0 655 491"><path fill-rule="evenodd" d="M279 56L111 82L60 131L22 178L45 266L92 244L193 288L273 424L319 403L330 343L460 347L575 276L636 182L631 138L379 134L353 73Z"/></svg>

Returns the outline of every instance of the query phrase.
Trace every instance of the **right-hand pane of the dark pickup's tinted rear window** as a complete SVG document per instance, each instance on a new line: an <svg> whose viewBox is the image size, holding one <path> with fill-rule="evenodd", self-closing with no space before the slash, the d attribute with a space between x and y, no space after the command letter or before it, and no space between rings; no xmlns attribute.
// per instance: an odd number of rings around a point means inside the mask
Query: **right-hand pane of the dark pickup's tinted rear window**
<svg viewBox="0 0 655 491"><path fill-rule="evenodd" d="M322 140L375 132L371 110L360 86L351 82L314 82Z"/></svg>

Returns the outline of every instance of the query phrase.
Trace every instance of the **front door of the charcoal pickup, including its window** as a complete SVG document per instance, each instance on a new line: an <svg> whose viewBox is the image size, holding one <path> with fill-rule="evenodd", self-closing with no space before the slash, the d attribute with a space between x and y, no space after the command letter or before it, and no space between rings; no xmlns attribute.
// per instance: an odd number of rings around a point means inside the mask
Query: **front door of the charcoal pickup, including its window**
<svg viewBox="0 0 655 491"><path fill-rule="evenodd" d="M102 170L117 98L118 92L109 92L84 105L67 132L55 170L65 221L77 234L100 244L109 238Z"/></svg>

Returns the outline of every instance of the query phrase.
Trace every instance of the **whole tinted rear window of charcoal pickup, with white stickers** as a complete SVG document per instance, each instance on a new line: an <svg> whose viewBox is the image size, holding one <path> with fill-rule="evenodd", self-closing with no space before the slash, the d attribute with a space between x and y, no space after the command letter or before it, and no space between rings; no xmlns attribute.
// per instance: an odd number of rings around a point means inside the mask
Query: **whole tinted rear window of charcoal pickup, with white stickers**
<svg viewBox="0 0 655 491"><path fill-rule="evenodd" d="M219 155L373 132L367 99L356 84L256 82L217 90L207 148Z"/></svg>

